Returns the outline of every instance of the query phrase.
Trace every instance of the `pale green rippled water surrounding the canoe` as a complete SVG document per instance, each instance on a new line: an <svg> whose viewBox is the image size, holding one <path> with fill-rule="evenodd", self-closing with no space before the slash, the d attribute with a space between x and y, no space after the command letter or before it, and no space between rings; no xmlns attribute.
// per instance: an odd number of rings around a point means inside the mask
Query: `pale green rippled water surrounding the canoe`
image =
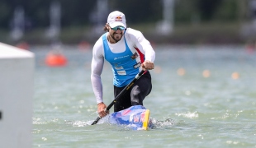
<svg viewBox="0 0 256 148"><path fill-rule="evenodd" d="M88 125L97 118L91 51L65 46L69 65L55 68L44 65L49 47L31 51L33 147L256 147L256 53L242 46L155 47L153 90L144 101L155 125L149 131ZM110 104L111 67L105 65L104 102Z"/></svg>

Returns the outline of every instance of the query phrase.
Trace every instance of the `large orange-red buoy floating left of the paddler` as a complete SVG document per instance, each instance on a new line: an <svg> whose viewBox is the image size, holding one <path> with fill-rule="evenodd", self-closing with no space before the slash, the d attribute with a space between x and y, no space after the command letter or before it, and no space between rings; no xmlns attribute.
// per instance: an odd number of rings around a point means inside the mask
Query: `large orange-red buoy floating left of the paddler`
<svg viewBox="0 0 256 148"><path fill-rule="evenodd" d="M68 60L62 53L48 53L45 58L45 64L49 67L64 67Z"/></svg>

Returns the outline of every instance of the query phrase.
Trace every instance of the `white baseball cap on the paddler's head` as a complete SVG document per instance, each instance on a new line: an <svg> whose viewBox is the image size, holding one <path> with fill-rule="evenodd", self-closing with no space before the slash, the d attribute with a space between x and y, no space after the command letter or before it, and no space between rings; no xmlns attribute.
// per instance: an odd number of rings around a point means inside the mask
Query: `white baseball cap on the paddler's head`
<svg viewBox="0 0 256 148"><path fill-rule="evenodd" d="M107 23L111 28L114 28L117 25L121 25L126 28L126 16L122 12L111 12L107 17Z"/></svg>

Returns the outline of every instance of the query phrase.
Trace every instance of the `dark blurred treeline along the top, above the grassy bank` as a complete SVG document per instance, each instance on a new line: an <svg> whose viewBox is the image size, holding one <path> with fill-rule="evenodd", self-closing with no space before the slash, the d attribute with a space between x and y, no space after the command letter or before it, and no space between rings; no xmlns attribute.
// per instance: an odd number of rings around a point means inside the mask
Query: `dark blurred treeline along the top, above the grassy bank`
<svg viewBox="0 0 256 148"><path fill-rule="evenodd" d="M107 1L107 0L105 0ZM0 0L0 29L9 29L16 7L23 7L29 28L50 25L52 0ZM92 25L97 0L59 0L62 27ZM175 0L175 23L203 21L238 21L249 16L249 0ZM109 12L119 10L126 14L129 23L156 22L163 18L162 0L108 0Z"/></svg>

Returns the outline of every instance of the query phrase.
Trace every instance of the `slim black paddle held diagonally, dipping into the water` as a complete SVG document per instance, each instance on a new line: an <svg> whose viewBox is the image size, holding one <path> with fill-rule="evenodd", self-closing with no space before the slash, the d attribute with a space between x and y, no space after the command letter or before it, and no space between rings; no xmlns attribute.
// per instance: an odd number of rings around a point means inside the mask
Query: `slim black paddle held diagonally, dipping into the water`
<svg viewBox="0 0 256 148"><path fill-rule="evenodd" d="M118 94L118 95L116 96L116 98L111 102L111 104L109 104L109 105L107 106L107 108L105 109L105 112L109 111L109 109L111 109L111 107L113 106L113 104L116 103L116 100L119 99L119 98L121 97L121 95L124 95L124 94L126 93L126 91L129 90L130 87L135 84L135 81L137 81L137 80L140 78L140 76L142 76L142 75L145 74L145 72L146 72L146 71L143 71L143 70L142 70L140 73L138 73L138 74L135 76L135 78L134 78L132 81L130 81L130 83L129 83L123 90L121 90L120 94ZM98 117L96 118L96 120L92 123L92 125L96 124L100 119L101 119L101 117L98 116Z"/></svg>

